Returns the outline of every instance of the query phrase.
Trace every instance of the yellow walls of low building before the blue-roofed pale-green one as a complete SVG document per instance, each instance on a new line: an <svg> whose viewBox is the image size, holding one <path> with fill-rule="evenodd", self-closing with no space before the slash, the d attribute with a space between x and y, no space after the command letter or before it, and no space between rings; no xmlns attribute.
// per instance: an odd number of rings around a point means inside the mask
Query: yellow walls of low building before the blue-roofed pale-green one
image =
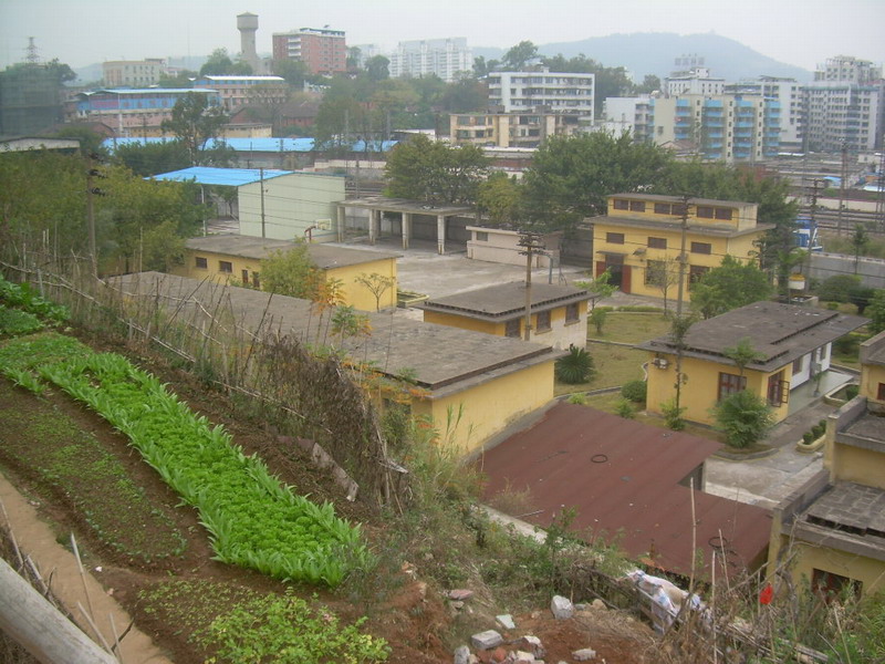
<svg viewBox="0 0 885 664"><path fill-rule="evenodd" d="M208 267L206 269L196 267L196 257L204 257L207 260ZM219 262L227 261L233 267L230 273L221 272ZM239 256L229 256L225 253L215 253L210 251L199 251L195 249L185 250L185 264L177 267L173 273L179 277L189 277L191 279L206 279L218 283L231 282L241 284L243 279L242 271L248 272L248 280L251 283L254 273L261 273L261 261L256 258L242 258ZM342 281L342 294L344 297L344 304L350 304L361 311L375 311L375 295L363 284L356 283L354 279L361 274L372 274L377 272L384 277L393 278L394 284L387 289L381 298L381 308L396 307L396 259L382 258L378 260L371 260L355 266L345 266L341 268L331 268L325 270L326 279L339 279ZM259 279L260 281L260 279Z"/></svg>

